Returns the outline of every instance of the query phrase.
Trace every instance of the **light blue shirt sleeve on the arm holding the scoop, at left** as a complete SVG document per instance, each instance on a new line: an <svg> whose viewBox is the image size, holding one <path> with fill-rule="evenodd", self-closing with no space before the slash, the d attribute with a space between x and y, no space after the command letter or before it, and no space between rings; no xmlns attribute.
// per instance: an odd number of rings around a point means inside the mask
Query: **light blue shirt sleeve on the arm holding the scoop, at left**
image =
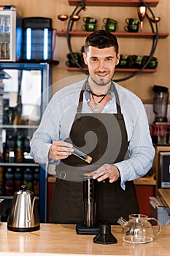
<svg viewBox="0 0 170 256"><path fill-rule="evenodd" d="M30 141L31 157L35 162L47 165L50 162L48 154L53 141L64 140L69 136L81 86L80 84L78 89L75 86L71 92L69 86L58 91L48 103L39 127ZM51 162L56 164L53 160Z"/></svg>

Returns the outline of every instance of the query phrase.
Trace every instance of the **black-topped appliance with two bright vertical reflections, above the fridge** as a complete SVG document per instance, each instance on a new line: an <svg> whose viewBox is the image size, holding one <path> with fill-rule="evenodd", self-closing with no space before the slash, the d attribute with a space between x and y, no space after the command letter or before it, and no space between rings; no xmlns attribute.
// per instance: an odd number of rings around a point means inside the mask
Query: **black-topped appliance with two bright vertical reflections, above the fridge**
<svg viewBox="0 0 170 256"><path fill-rule="evenodd" d="M23 56L27 61L52 59L52 19L23 18Z"/></svg>

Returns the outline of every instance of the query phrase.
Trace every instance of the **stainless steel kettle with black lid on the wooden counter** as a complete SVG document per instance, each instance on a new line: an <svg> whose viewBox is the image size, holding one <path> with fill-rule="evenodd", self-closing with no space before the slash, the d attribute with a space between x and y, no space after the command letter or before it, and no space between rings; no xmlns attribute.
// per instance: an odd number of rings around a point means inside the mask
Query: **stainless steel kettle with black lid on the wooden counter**
<svg viewBox="0 0 170 256"><path fill-rule="evenodd" d="M34 193L23 185L12 199L7 219L7 229L11 231L30 232L39 230L39 208Z"/></svg>

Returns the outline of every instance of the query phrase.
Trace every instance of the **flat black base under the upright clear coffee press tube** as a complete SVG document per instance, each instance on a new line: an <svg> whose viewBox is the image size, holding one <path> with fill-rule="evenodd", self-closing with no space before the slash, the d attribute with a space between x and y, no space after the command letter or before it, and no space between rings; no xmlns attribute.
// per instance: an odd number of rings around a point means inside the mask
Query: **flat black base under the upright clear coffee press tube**
<svg viewBox="0 0 170 256"><path fill-rule="evenodd" d="M77 234L84 235L98 235L100 231L99 225L94 225L93 227L86 227L83 223L77 223L76 232Z"/></svg>

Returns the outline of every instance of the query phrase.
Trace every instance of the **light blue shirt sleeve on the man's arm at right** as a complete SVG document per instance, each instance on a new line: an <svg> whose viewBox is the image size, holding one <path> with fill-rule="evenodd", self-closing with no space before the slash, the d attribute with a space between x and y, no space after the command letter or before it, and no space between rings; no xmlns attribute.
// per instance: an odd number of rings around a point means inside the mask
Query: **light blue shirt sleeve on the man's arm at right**
<svg viewBox="0 0 170 256"><path fill-rule="evenodd" d="M129 159L115 163L120 171L123 189L125 189L125 181L141 178L150 170L155 156L147 114L142 102L140 100L134 101L129 108L128 115L125 113L124 116L128 132Z"/></svg>

